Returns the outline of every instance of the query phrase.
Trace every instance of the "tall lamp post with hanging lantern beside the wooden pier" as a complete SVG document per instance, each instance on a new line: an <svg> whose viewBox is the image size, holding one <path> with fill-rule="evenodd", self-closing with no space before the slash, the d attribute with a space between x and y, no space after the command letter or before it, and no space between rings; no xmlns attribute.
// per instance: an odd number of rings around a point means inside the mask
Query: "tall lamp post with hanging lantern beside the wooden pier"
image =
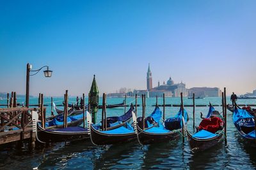
<svg viewBox="0 0 256 170"><path fill-rule="evenodd" d="M35 76L35 74L39 73L41 69L44 67L47 67L47 69L44 71L44 76L45 77L51 77L52 76L52 71L49 70L48 66L43 66L40 69L32 70L32 65L27 64L27 76L26 76L26 107L29 108L29 77L30 76ZM35 72L34 74L30 74L30 72Z"/></svg>

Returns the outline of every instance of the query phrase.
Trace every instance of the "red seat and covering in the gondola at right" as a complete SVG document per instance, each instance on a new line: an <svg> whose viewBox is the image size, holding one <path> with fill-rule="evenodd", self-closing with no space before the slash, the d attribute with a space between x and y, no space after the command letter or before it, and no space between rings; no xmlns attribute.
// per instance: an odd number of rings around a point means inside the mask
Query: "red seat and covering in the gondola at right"
<svg viewBox="0 0 256 170"><path fill-rule="evenodd" d="M223 128L223 121L219 117L204 118L199 124L199 130L205 130L212 133Z"/></svg>

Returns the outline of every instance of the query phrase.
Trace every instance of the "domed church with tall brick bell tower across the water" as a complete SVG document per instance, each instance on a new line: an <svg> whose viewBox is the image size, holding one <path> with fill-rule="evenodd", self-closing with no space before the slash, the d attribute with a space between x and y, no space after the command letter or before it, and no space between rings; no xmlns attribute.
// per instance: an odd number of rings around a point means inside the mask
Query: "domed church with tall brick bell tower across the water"
<svg viewBox="0 0 256 170"><path fill-rule="evenodd" d="M152 73L148 64L147 90L134 90L134 95L138 94L138 96L141 96L141 94L146 94L147 97L162 97L164 94L166 97L180 97L180 92L182 92L184 97L188 96L185 83L174 83L171 77L167 80L167 83L164 81L161 85L158 81L157 87L153 87Z"/></svg>

